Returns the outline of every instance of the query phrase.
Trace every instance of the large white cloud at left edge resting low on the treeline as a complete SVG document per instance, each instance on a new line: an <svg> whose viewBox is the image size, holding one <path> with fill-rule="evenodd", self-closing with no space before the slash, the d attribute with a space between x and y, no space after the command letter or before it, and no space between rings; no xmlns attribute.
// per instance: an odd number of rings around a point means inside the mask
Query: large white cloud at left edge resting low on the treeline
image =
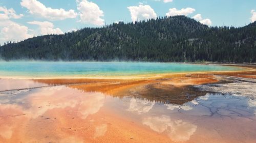
<svg viewBox="0 0 256 143"><path fill-rule="evenodd" d="M2 28L0 37L0 43L4 43L6 41L25 40L31 38L32 35L28 34L28 27L9 21L9 25Z"/></svg>

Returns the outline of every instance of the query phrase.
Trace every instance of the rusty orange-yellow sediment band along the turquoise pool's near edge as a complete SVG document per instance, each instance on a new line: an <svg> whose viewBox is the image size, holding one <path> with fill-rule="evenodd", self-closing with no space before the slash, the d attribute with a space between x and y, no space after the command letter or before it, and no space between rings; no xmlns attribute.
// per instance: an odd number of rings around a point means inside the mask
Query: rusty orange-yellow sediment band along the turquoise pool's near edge
<svg viewBox="0 0 256 143"><path fill-rule="evenodd" d="M241 67L240 67L241 68ZM70 78L70 79L33 79L36 82L47 84L68 84L70 88L87 92L101 92L108 95L125 95L129 90L146 85L160 84L173 85L182 88L187 85L198 85L218 82L216 75L228 75L246 78L255 78L256 70L253 67L243 67L244 71L222 71L222 72L191 72L157 74L155 76L143 76L141 78ZM146 78L145 78L146 77ZM159 88L159 86L154 86ZM166 86L165 86L166 87ZM139 89L139 90L140 90ZM170 88L169 88L170 89ZM170 89L171 90L171 89Z"/></svg>

